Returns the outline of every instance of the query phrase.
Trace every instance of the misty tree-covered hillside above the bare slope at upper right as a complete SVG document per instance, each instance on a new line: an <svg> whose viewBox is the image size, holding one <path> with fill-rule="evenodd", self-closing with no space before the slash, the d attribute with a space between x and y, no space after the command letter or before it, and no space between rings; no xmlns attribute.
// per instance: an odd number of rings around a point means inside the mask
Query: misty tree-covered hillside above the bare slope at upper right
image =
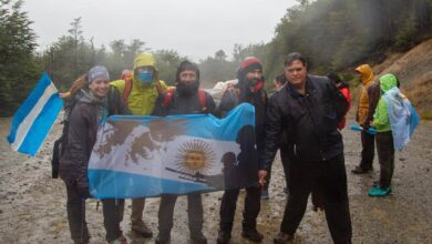
<svg viewBox="0 0 432 244"><path fill-rule="evenodd" d="M267 74L280 72L282 57L295 51L309 59L313 73L325 74L364 61L371 53L411 48L432 34L431 0L298 2L267 44Z"/></svg>

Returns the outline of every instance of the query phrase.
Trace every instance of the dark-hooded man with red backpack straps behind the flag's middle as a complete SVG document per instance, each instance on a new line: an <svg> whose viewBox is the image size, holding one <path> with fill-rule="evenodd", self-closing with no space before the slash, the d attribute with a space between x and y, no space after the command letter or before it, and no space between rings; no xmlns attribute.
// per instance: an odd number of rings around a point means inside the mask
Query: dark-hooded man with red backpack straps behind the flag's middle
<svg viewBox="0 0 432 244"><path fill-rule="evenodd" d="M198 90L199 70L195 63L183 61L176 74L175 90L167 90L156 102L155 115L215 113L215 102L210 94ZM205 101L204 101L205 100ZM173 227L175 194L161 196L158 212L160 233L155 243L169 243ZM200 193L187 194L187 214L191 240L196 244L207 243L203 235L203 203Z"/></svg>

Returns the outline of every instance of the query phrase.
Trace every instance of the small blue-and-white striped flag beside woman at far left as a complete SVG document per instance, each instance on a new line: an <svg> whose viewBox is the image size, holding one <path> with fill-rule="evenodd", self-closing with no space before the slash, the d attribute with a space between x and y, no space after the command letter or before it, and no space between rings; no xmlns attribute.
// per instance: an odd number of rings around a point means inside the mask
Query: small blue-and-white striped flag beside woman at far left
<svg viewBox="0 0 432 244"><path fill-rule="evenodd" d="M34 156L62 106L59 91L44 72L13 115L8 135L12 150Z"/></svg>

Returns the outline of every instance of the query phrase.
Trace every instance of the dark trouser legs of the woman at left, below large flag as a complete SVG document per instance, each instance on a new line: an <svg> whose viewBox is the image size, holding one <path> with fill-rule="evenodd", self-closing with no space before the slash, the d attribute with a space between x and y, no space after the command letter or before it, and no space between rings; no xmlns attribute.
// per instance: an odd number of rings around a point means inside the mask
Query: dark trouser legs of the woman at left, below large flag
<svg viewBox="0 0 432 244"><path fill-rule="evenodd" d="M88 243L90 234L85 222L85 199L82 199L75 185L66 185L68 221L71 237L74 243ZM111 242L122 235L120 222L123 218L124 200L102 200L103 223L106 231L106 241Z"/></svg>

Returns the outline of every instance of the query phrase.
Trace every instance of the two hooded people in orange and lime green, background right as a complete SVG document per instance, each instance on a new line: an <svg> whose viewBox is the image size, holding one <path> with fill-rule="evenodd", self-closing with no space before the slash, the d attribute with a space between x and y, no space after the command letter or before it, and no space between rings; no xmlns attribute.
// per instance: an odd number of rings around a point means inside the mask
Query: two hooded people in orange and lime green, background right
<svg viewBox="0 0 432 244"><path fill-rule="evenodd" d="M361 80L356 120L361 131L361 161L351 172L367 174L373 170L373 157L377 146L380 177L373 182L368 194L370 196L387 196L391 193L391 179L394 172L395 144L402 150L408 143L418 121L415 111L408 99L399 91L400 81L391 73L385 73L376 80L368 64L356 68ZM397 108L397 109L394 109ZM410 110L412 109L412 110ZM398 126L398 124L403 124ZM374 131L369 129L373 128ZM410 129L411 128L411 129ZM407 133L403 131L408 130ZM398 138L393 138L393 132ZM402 143L394 142L402 140Z"/></svg>

